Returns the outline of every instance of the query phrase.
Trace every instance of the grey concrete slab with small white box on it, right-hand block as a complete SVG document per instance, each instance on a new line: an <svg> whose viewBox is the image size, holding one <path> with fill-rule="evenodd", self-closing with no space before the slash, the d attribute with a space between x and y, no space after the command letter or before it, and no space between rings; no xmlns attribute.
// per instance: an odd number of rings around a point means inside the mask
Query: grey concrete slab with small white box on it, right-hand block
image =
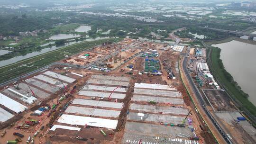
<svg viewBox="0 0 256 144"><path fill-rule="evenodd" d="M184 117L177 116L168 116L168 115L160 115L160 114L142 114L142 113L134 113L130 112L128 114L128 119L130 120L138 120L138 121L150 121L150 122L164 122L171 124L182 124Z"/></svg>

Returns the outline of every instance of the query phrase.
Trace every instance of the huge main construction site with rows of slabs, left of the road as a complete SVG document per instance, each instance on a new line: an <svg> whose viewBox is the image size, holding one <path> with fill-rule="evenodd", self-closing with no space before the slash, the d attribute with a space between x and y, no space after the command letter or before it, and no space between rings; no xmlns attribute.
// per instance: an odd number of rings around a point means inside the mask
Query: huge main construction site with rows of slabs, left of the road
<svg viewBox="0 0 256 144"><path fill-rule="evenodd" d="M215 142L181 81L187 49L126 38L20 77L0 90L0 144Z"/></svg>

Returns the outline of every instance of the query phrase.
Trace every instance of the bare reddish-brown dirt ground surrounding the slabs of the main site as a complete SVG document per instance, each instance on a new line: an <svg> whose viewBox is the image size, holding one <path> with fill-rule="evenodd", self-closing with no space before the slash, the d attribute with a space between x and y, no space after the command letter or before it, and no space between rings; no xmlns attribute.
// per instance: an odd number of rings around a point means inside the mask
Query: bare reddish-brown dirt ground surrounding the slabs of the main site
<svg viewBox="0 0 256 144"><path fill-rule="evenodd" d="M106 49L108 46L105 46L105 47L97 46L92 51L83 52L81 54L87 54L87 53L88 54L90 53L91 55L96 54L94 59L90 60L89 63L91 63L93 60L97 60L99 58L98 56L107 54L108 52L113 52L116 49L120 50L120 47L125 48L127 45L131 45L133 44L132 42L135 42L135 41L136 40L125 39L124 41L120 42L120 44L118 45L117 44L110 45L110 48L109 48L110 50L107 52L106 52ZM73 83L70 83L67 86L67 92L66 92L66 94L68 94L67 98L64 99L62 102L59 102L56 111L53 112L52 115L50 115L50 117L47 117L49 111L46 111L44 115L40 117L30 116L30 114L33 111L35 111L37 108L40 108L42 106L46 106L46 105L52 106L53 104L56 104L58 102L58 99L64 95L64 89L57 91L55 94L51 95L48 99L42 100L40 105L37 105L37 106L35 105L32 108L30 107L30 109L28 109L27 111L16 115L14 118L5 122L3 125L0 125L0 129L7 131L6 135L0 138L0 144L5 143L7 140L15 140L16 137L12 135L13 132L19 132L25 135L24 138L22 138L22 142L20 143L20 144L25 144L28 136L34 135L34 133L38 129L40 129L41 126L45 126L45 128L43 130L40 130L39 135L35 137L35 144L41 144L41 143L44 144L46 142L51 142L52 144L121 144L122 137L124 135L125 123L127 121L127 111L131 103L135 82L167 84L172 87L175 87L178 91L180 91L183 95L183 99L185 102L185 104L181 106L184 108L188 108L189 110L192 109L192 115L189 115L189 117L193 119L193 123L194 123L193 126L195 127L195 133L200 138L199 142L205 143L205 144L212 144L212 142L214 142L212 135L208 133L209 131L208 128L205 126L201 117L195 110L194 105L191 103L191 99L189 98L185 88L183 87L183 83L181 81L179 72L175 71L175 63L178 61L179 54L176 52L174 53L172 51L161 50L164 47L164 45L160 45L160 44L143 42L138 46L142 47L142 49L145 51L149 48L157 49L159 51L160 56L154 59L160 60L160 63L161 63L160 69L163 72L162 76L150 77L150 76L147 76L146 73L139 74L139 72L144 71L144 63L145 63L145 58L142 58L139 56L128 60L125 64L122 64L122 65L120 64L120 66L112 72L101 72L96 70L87 70L87 69L79 69L79 68L64 69L64 66L60 66L60 65L53 66L49 68L49 70L57 73L62 73L66 76L76 79L76 81L74 81ZM121 61L124 62L125 58L128 58L140 51L141 49L135 48L135 49L129 49L128 51L125 51L125 52L121 52ZM74 57L78 55L74 55ZM133 65L133 70L132 70L133 74L126 74L126 72L130 71L130 68L127 68L127 65L129 64ZM166 67L170 67L174 71L174 74L176 75L175 80L167 79L167 72L165 71ZM77 75L71 74L71 72L82 74L83 77L80 78ZM121 109L119 117L108 118L108 119L118 119L117 128L107 129L107 128L100 128L100 127L93 127L93 126L86 126L86 127L77 126L82 128L82 130L72 131L72 130L57 128L55 131L49 131L50 129L49 126L58 124L56 121L60 117L61 113L64 113L64 109L63 109L64 105L66 105L67 103L70 103L70 101L73 100L74 98L91 99L91 97L80 96L77 94L77 92L83 87L86 81L90 79L92 74L116 75L116 76L125 76L130 78L128 91L126 92L126 97L124 99L118 99L117 101L117 102L122 102L124 104L123 108ZM32 75L29 77L32 77ZM185 84L187 85L187 83ZM76 91L74 93L70 93L74 86L76 86ZM109 100L103 99L103 101L109 101ZM110 101L114 102L115 99L110 99ZM146 104L146 103L143 103L143 104ZM171 107L172 105L158 104L158 106ZM84 107L92 108L89 106L84 106ZM106 108L106 109L112 109L112 108ZM18 124L23 124L25 121L28 120L27 119L28 117L36 120L40 120L41 122L39 123L38 126L31 126L29 129L26 129L25 131L16 129ZM204 117L207 117L207 116L204 115ZM7 128L10 124L13 124L13 126ZM199 127L200 125L202 128ZM70 125L66 124L66 126L70 126ZM102 129L107 134L107 136L103 136L100 132L100 129Z"/></svg>

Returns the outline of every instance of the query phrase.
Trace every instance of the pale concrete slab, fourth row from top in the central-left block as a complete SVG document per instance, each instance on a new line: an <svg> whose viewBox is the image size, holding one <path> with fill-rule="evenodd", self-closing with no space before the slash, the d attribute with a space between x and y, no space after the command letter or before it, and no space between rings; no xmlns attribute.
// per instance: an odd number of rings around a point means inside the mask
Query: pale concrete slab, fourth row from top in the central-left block
<svg viewBox="0 0 256 144"><path fill-rule="evenodd" d="M98 92L98 91L88 91L88 90L81 90L79 91L78 94L83 96L101 97L101 98L108 98L110 96L110 92ZM124 99L125 94L112 93L110 97L114 99Z"/></svg>

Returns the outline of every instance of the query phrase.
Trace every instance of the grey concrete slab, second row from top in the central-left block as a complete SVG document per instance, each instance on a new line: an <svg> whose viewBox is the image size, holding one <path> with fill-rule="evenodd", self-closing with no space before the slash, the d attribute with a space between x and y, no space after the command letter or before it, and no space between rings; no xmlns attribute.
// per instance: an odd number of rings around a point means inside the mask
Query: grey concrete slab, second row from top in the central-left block
<svg viewBox="0 0 256 144"><path fill-rule="evenodd" d="M89 79L87 81L89 84L104 84L104 85L115 85L115 86L126 86L128 87L129 82L125 81L111 81L111 80L101 80L101 79Z"/></svg>

